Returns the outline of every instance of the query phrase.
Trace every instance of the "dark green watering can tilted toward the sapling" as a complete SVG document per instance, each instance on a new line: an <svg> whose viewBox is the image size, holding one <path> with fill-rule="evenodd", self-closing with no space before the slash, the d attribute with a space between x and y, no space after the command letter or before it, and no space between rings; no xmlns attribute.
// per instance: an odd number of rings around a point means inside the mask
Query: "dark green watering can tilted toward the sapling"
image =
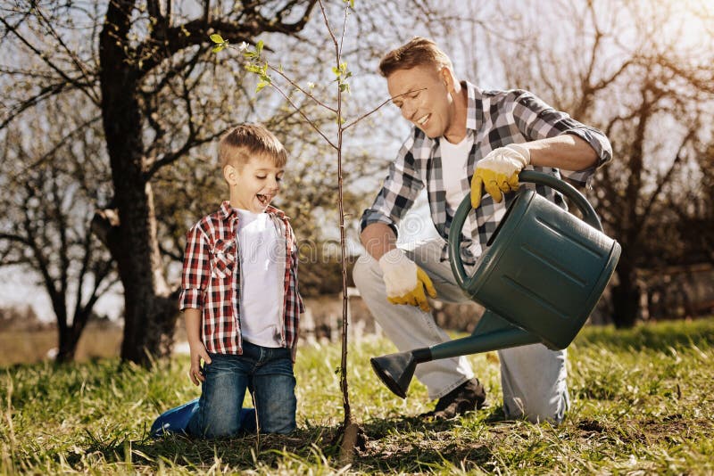
<svg viewBox="0 0 714 476"><path fill-rule="evenodd" d="M372 357L374 371L399 397L406 397L422 362L536 342L565 349L600 300L618 264L619 243L602 233L595 210L572 186L529 170L519 174L519 181L563 193L583 220L533 190L520 189L469 276L460 252L461 229L471 212L470 197L464 198L452 220L449 257L461 289L486 311L469 337Z"/></svg>

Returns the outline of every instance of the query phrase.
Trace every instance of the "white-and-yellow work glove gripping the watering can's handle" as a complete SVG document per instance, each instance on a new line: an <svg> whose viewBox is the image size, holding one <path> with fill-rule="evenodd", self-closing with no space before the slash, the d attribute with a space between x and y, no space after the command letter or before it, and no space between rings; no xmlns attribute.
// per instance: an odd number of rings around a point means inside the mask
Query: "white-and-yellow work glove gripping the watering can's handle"
<svg viewBox="0 0 714 476"><path fill-rule="evenodd" d="M496 202L502 201L502 192L518 190L519 172L529 163L530 152L520 144L499 147L478 160L471 178L471 207L481 204L481 185Z"/></svg>

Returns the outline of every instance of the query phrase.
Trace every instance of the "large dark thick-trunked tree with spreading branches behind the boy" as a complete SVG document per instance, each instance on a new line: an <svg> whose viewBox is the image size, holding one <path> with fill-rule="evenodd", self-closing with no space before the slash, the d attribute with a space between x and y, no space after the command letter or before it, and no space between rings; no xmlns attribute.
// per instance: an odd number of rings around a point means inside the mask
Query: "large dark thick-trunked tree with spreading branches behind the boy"
<svg viewBox="0 0 714 476"><path fill-rule="evenodd" d="M9 107L0 126L70 89L86 94L101 111L112 170L108 205L118 219L107 219L111 212L97 215L95 229L102 229L99 235L124 287L123 359L148 364L147 352L170 350L176 291L162 267L152 178L220 134L220 127L202 116L210 86L203 81L207 69L202 66L212 64L208 36L220 30L230 41L251 42L263 33L295 35L313 6L314 0L205 2L201 8L119 0L4 7L5 51L33 54L40 68L4 66L28 86L21 92L13 88L12 97L4 95ZM86 33L81 42L78 29Z"/></svg>

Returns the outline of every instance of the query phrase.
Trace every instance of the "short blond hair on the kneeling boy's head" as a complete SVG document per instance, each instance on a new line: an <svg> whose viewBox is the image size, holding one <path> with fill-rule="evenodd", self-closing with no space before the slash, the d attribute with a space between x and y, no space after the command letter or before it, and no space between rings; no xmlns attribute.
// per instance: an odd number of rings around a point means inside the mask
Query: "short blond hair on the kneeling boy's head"
<svg viewBox="0 0 714 476"><path fill-rule="evenodd" d="M252 157L260 155L273 160L275 167L285 167L287 152L278 137L262 124L240 124L220 138L220 169L227 165L242 168Z"/></svg>

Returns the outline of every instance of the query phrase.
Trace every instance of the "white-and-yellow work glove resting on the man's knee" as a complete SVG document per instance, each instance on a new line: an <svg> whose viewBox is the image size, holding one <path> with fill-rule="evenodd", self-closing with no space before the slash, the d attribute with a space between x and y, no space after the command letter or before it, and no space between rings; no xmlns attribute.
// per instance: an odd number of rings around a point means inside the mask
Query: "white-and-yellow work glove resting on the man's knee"
<svg viewBox="0 0 714 476"><path fill-rule="evenodd" d="M393 304L419 306L428 312L427 295L436 298L436 289L428 275L414 261L407 258L403 250L394 248L379 259L386 284L386 299Z"/></svg>

